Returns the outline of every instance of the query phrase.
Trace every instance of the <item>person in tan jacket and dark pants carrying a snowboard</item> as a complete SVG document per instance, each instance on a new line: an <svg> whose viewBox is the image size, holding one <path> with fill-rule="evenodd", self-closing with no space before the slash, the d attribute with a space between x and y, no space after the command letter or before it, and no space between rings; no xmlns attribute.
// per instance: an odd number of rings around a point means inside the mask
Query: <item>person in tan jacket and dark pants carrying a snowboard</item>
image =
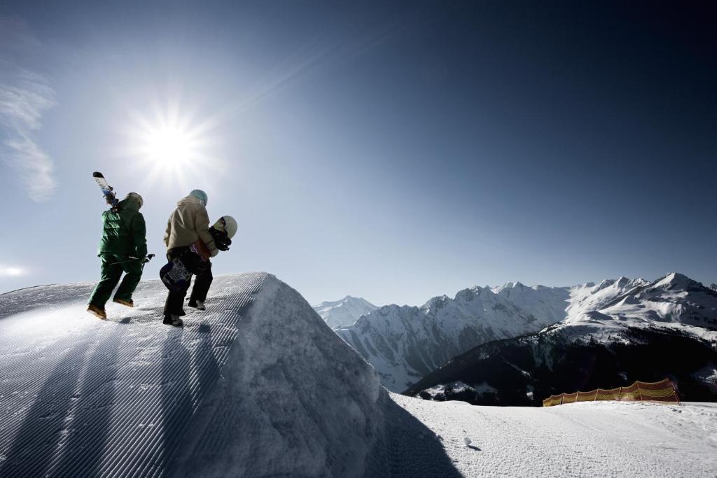
<svg viewBox="0 0 717 478"><path fill-rule="evenodd" d="M177 203L176 209L169 216L167 229L164 234L164 244L167 247L167 260L171 262L181 257L186 269L196 275L192 288L190 305L196 307L201 303L204 308L206 292L212 283L212 263L209 257L217 255L219 250L214 244L212 233L209 232L209 215L206 214L206 193L195 189L189 196ZM181 326L181 316L184 312L184 297L189 290L170 290L164 303L164 321L167 325Z"/></svg>

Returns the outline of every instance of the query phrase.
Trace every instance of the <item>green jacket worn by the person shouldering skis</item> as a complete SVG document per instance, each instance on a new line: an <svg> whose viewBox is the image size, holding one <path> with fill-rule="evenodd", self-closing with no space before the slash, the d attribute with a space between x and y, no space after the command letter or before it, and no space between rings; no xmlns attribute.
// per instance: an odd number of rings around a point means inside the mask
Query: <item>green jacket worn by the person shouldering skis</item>
<svg viewBox="0 0 717 478"><path fill-rule="evenodd" d="M100 254L127 254L133 257L147 255L147 229L139 204L133 199L120 201L118 212L102 214L103 232Z"/></svg>

